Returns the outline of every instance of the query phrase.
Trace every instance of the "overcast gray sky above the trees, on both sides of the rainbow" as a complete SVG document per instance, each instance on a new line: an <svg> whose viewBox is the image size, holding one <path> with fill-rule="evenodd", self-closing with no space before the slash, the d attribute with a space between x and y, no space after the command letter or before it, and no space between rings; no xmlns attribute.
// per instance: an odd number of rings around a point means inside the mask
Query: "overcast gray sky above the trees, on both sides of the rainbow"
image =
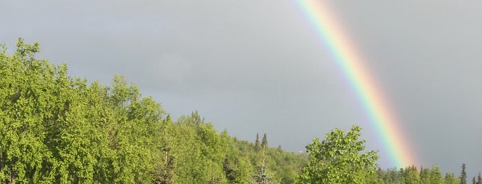
<svg viewBox="0 0 482 184"><path fill-rule="evenodd" d="M423 165L482 171L482 1L330 1ZM330 51L292 1L8 1L0 43L109 84L115 73L173 117L305 150L335 127L363 126L391 167ZM471 175L471 176L472 176Z"/></svg>

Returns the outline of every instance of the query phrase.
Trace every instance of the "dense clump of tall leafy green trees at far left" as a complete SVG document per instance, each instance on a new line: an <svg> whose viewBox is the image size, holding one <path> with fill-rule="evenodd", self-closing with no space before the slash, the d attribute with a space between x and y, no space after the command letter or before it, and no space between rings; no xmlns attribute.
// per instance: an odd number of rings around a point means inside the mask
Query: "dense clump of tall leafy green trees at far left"
<svg viewBox="0 0 482 184"><path fill-rule="evenodd" d="M161 160L163 109L114 77L112 88L37 60L19 38L0 54L0 181L149 183Z"/></svg>

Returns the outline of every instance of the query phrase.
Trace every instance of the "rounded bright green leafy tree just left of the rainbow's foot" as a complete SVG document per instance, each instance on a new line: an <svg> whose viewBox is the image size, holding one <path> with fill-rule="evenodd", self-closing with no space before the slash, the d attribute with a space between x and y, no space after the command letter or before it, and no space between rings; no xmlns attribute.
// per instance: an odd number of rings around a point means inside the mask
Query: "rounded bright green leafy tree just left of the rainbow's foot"
<svg viewBox="0 0 482 184"><path fill-rule="evenodd" d="M313 139L306 146L310 160L301 169L297 183L378 183L376 151L363 152L365 141L359 141L361 127L350 132L335 128L321 143Z"/></svg>

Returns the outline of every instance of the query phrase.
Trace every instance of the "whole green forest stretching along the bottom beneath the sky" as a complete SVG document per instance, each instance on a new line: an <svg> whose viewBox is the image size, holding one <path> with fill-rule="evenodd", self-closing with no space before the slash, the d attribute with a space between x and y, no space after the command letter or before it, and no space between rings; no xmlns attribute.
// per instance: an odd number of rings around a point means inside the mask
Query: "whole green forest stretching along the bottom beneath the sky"
<svg viewBox="0 0 482 184"><path fill-rule="evenodd" d="M240 140L197 111L172 119L123 76L110 85L37 59L39 44L0 47L1 183L476 183L436 165L380 168L361 127L334 128L305 153Z"/></svg>

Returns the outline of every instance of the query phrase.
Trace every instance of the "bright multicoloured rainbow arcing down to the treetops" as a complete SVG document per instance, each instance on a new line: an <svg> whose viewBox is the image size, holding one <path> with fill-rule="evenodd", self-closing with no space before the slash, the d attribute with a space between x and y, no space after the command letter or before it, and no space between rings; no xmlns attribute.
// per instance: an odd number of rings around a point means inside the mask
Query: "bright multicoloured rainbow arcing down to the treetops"
<svg viewBox="0 0 482 184"><path fill-rule="evenodd" d="M299 8L309 19L317 31L321 41L330 49L334 60L350 83L350 86L360 100L365 113L370 119L370 124L381 140L381 154L389 157L393 167L404 168L416 164L414 154L405 139L403 131L397 127L396 116L391 111L387 100L383 97L356 47L350 42L347 34L337 24L336 17L325 1L299 0Z"/></svg>

